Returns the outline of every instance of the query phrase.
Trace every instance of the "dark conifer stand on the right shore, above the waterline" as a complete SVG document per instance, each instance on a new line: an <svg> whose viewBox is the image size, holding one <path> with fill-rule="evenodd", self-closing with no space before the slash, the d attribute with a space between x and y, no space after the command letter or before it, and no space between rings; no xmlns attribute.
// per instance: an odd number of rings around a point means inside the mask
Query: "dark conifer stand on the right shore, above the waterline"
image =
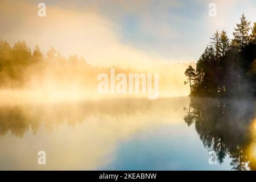
<svg viewBox="0 0 256 182"><path fill-rule="evenodd" d="M233 39L218 30L197 61L185 71L192 96L247 97L256 95L256 22L242 14Z"/></svg>

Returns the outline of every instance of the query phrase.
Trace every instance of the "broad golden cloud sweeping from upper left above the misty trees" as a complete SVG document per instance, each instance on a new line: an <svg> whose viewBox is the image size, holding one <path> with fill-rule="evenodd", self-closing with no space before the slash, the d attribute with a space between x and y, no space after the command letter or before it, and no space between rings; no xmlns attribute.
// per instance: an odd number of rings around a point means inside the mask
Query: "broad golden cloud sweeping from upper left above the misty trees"
<svg viewBox="0 0 256 182"><path fill-rule="evenodd" d="M93 65L146 67L170 61L122 43L115 32L116 24L94 11L47 5L43 18L37 11L34 3L1 1L0 16L5 26L0 28L0 38L11 43L26 40L30 47L39 44L43 52L53 46L65 56L84 56Z"/></svg>

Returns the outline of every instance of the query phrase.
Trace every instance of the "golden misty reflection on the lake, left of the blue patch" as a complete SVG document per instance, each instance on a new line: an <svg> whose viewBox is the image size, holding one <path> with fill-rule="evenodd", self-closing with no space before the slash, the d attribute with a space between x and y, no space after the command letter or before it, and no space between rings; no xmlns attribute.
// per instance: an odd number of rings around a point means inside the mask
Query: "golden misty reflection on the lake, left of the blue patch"
<svg viewBox="0 0 256 182"><path fill-rule="evenodd" d="M120 140L183 123L189 98L117 98L0 108L1 169L96 169L114 160ZM37 152L47 152L47 165Z"/></svg>

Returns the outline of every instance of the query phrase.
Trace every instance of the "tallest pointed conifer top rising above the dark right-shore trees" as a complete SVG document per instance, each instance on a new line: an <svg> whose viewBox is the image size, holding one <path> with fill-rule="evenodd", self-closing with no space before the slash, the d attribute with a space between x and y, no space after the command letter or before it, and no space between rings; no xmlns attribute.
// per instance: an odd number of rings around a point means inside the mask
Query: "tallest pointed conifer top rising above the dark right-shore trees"
<svg viewBox="0 0 256 182"><path fill-rule="evenodd" d="M240 23L237 23L237 27L234 28L234 44L237 44L240 50L249 43L250 23L251 22L248 22L245 14L243 13L240 18Z"/></svg>

